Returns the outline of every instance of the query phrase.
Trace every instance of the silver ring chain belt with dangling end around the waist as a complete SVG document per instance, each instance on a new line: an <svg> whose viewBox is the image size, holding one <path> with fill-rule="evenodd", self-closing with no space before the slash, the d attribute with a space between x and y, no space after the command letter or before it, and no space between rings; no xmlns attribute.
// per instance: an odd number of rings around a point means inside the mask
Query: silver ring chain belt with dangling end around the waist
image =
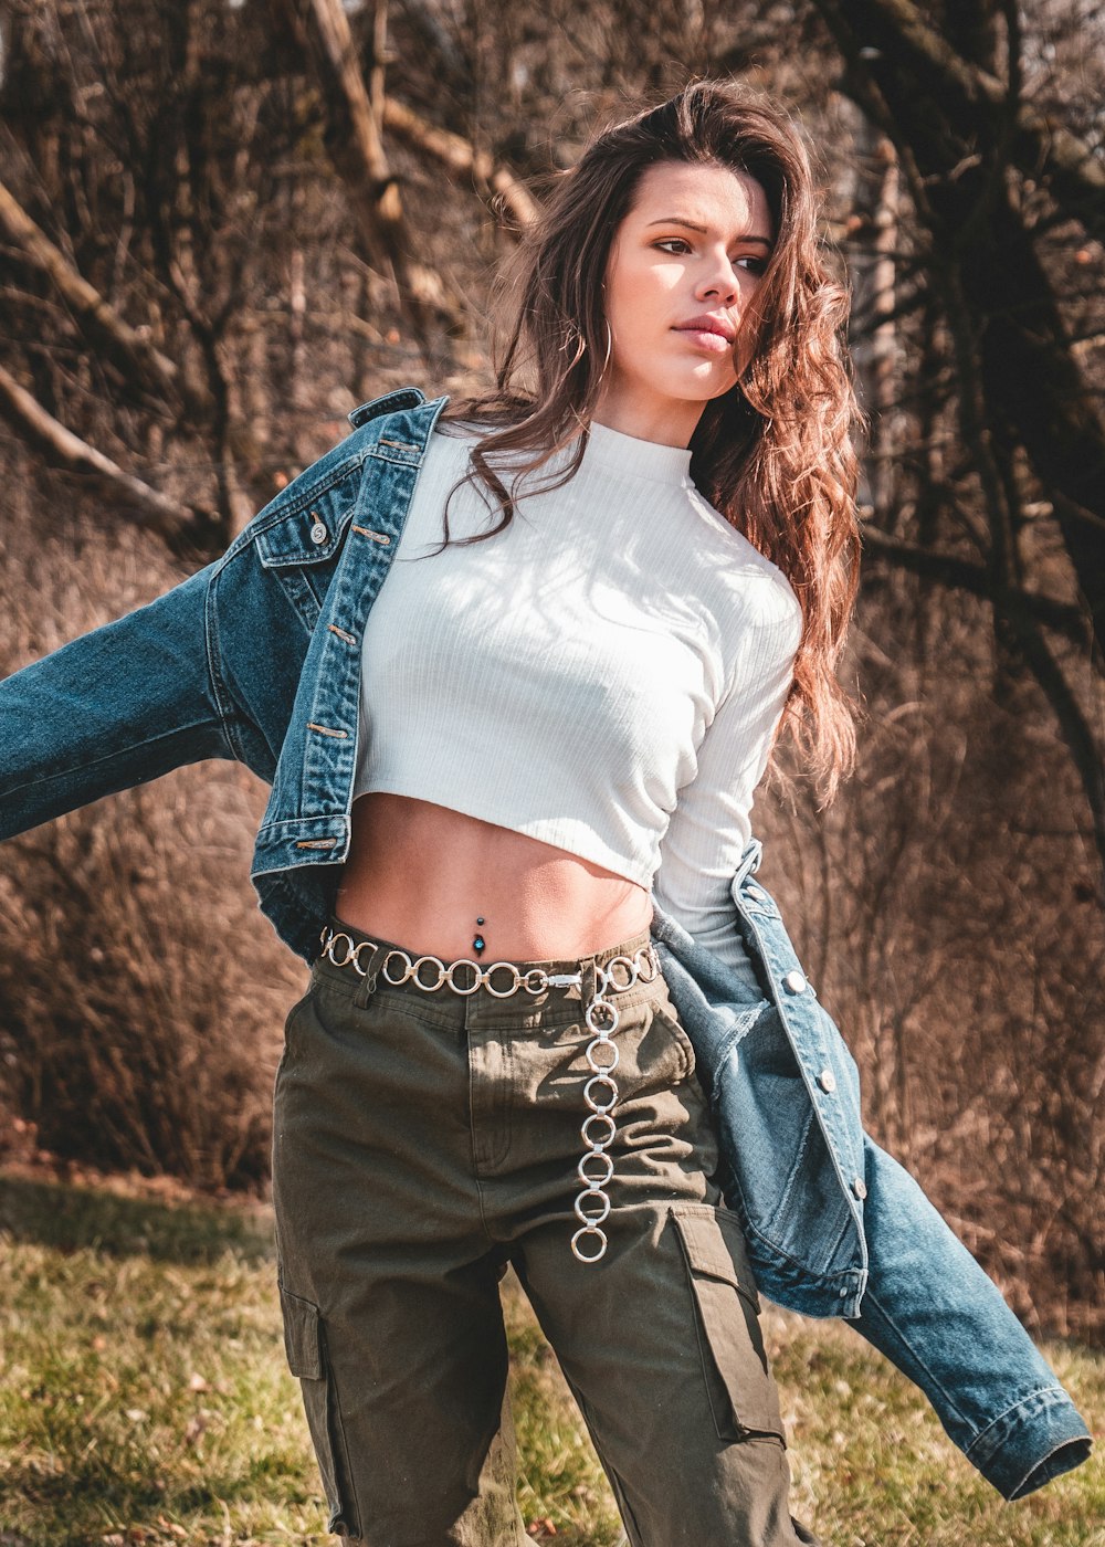
<svg viewBox="0 0 1105 1547"><path fill-rule="evenodd" d="M373 941L354 941L342 930L325 928L322 931L322 954L334 967L351 967L361 978L368 976L368 968L361 965L361 954L367 951L371 958L379 947ZM393 965L398 964L398 965ZM466 968L458 982L458 968ZM426 979L426 972L433 975ZM470 972L470 982L467 981ZM413 984L424 993L436 993L449 989L452 993L467 996L477 989L486 989L495 999L508 999L512 993L545 993L548 989L582 989L582 972L549 973L543 967L529 967L520 972L514 962L491 962L481 967L466 956L446 965L438 956L410 956L409 951L393 947L387 951L378 967L384 982L398 989L404 982ZM494 981L498 975L498 984ZM619 981L624 975L624 981ZM624 993L638 982L653 982L659 976L659 956L652 941L642 945L631 956L611 956L608 962L594 964L594 993L583 1007L583 1023L591 1032L591 1041L583 1050L587 1067L591 1075L583 1086L583 1103L587 1117L579 1135L583 1140L576 1174L582 1191L576 1197L574 1210L579 1219L579 1230L571 1238L571 1250L580 1262L597 1262L607 1250L607 1233L602 1228L610 1216L610 1194L607 1187L614 1176L614 1162L610 1146L614 1142L618 1125L614 1123L614 1106L618 1105L618 1067L619 1052L613 1036L621 1024L618 1006L610 995ZM503 978L506 981L503 982ZM597 1132L596 1132L597 1129Z"/></svg>

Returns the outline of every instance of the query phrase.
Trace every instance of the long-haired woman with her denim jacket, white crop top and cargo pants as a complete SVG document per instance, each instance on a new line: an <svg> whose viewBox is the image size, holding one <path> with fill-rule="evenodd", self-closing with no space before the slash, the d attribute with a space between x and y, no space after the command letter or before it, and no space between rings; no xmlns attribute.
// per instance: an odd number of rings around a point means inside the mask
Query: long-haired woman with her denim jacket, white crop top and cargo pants
<svg viewBox="0 0 1105 1547"><path fill-rule="evenodd" d="M1009 1496L1086 1453L989 1281L864 1148L854 1069L749 882L780 726L826 797L851 758L843 317L794 127L689 87L560 183L494 394L367 405L217 565L3 685L5 832L198 756L272 781L254 879L314 959L277 1077L280 1298L339 1533L526 1541L511 1264L635 1544L812 1541L749 1253L817 1313L860 1315L870 1272L860 1329ZM766 1064L732 1094L738 1043ZM870 1270L868 1187L893 1242ZM952 1318L1000 1352L958 1386Z"/></svg>

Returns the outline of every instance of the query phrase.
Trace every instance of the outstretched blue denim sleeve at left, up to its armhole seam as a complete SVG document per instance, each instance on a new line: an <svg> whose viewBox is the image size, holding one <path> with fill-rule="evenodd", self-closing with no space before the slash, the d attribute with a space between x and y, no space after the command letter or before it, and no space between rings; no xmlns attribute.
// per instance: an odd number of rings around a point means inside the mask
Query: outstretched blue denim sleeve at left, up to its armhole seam
<svg viewBox="0 0 1105 1547"><path fill-rule="evenodd" d="M212 569L0 682L0 838L235 755L206 644Z"/></svg>

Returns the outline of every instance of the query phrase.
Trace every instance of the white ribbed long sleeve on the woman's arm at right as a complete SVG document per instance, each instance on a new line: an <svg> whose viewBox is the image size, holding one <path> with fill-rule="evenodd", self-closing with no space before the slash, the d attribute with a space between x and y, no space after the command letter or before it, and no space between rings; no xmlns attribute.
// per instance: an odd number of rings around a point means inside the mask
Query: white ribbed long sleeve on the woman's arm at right
<svg viewBox="0 0 1105 1547"><path fill-rule="evenodd" d="M656 902L729 965L744 947L729 894L751 837L752 795L763 778L802 639L802 610L782 574L765 575L735 642L726 692L679 789L661 843Z"/></svg>

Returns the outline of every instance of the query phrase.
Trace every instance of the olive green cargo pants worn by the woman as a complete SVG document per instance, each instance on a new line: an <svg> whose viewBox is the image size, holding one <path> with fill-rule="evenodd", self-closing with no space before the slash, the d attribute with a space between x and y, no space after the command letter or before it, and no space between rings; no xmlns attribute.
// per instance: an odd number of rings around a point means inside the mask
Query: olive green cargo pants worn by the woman
<svg viewBox="0 0 1105 1547"><path fill-rule="evenodd" d="M364 939L348 930L354 941ZM662 976L613 995L608 1248L571 1252L583 987L497 999L320 959L288 1016L272 1190L288 1361L330 1528L373 1547L522 1547L498 1284L514 1265L633 1547L812 1542L693 1050ZM470 979L464 979L470 981ZM583 996L582 996L583 995Z"/></svg>

